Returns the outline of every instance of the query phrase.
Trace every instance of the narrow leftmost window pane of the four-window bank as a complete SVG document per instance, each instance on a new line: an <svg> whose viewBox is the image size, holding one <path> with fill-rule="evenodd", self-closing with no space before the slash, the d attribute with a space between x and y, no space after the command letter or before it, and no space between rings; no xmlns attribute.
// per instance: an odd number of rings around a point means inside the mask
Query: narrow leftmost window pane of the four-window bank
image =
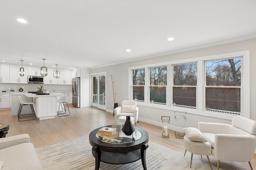
<svg viewBox="0 0 256 170"><path fill-rule="evenodd" d="M145 69L132 70L132 100L144 102Z"/></svg>

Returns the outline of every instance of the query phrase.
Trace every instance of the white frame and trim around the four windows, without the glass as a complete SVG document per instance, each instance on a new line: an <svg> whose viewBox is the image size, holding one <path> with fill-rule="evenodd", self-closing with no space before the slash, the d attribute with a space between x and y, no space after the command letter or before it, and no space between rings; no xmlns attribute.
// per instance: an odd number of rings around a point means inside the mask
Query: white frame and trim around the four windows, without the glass
<svg viewBox="0 0 256 170"><path fill-rule="evenodd" d="M234 53L225 53L220 55L210 55L205 57L196 57L177 61L169 61L164 63L154 63L140 65L128 68L129 86L132 87L132 70L145 68L145 86L144 86L144 102L137 102L138 106L154 107L159 109L167 109L171 111L186 111L195 115L203 115L209 117L217 117L231 120L236 115L215 113L205 111L205 84L206 72L204 70L204 62L218 59L242 58L242 75L241 75L241 116L250 118L250 51L239 51ZM177 108L172 106L172 84L173 70L172 65L197 63L197 92L196 92L196 109ZM150 67L160 67L167 65L167 87L166 87L166 105L151 104L149 100L149 72ZM170 71L171 70L171 71ZM132 88L128 88L128 98L132 100ZM170 95L168 95L170 94Z"/></svg>

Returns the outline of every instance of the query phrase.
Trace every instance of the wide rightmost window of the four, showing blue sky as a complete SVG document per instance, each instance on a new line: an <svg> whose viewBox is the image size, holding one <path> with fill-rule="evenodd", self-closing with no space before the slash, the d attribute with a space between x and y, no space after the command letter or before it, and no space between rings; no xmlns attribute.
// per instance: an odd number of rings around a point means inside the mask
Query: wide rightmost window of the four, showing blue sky
<svg viewBox="0 0 256 170"><path fill-rule="evenodd" d="M234 58L205 62L207 111L240 115L241 61L241 58Z"/></svg>

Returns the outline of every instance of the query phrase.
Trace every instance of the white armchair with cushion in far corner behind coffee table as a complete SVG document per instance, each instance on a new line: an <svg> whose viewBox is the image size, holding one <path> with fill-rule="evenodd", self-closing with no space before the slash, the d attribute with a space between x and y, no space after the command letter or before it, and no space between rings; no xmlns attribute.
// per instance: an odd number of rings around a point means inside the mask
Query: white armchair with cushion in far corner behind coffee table
<svg viewBox="0 0 256 170"><path fill-rule="evenodd" d="M131 100L123 100L122 106L118 106L114 109L115 120L118 120L118 117L121 116L130 116L134 117L134 123L138 121L139 108L137 107L137 102Z"/></svg>

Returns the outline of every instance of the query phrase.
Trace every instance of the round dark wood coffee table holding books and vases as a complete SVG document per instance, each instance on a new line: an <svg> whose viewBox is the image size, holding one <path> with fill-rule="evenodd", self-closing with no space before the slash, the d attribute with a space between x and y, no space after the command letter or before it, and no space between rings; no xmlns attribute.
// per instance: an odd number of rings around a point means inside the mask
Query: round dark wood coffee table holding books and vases
<svg viewBox="0 0 256 170"><path fill-rule="evenodd" d="M95 157L95 170L100 168L100 161L109 164L128 164L139 159L142 161L143 169L147 169L148 133L145 130L135 127L136 130L130 137L121 132L120 137L112 141L104 141L98 137L98 130L101 128L93 130L89 135L92 154Z"/></svg>

